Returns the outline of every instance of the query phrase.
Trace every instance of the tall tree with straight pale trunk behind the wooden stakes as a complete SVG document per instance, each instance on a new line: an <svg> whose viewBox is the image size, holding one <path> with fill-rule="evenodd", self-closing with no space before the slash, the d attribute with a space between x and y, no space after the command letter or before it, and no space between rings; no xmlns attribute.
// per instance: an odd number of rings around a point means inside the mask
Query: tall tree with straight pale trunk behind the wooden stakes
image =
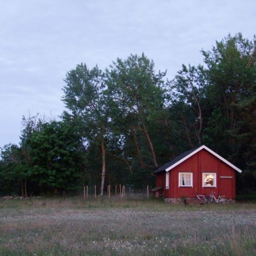
<svg viewBox="0 0 256 256"><path fill-rule="evenodd" d="M70 70L64 80L64 101L73 116L79 116L84 127L87 143L99 142L102 154L102 179L100 194L103 195L106 172L105 136L108 114L105 81L102 71L96 66L89 70L86 64Z"/></svg>

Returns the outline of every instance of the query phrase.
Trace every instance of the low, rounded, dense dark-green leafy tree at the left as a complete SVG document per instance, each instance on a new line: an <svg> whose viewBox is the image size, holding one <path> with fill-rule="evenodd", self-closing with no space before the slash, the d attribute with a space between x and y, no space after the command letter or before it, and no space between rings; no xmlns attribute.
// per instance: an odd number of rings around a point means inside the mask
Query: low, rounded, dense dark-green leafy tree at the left
<svg viewBox="0 0 256 256"><path fill-rule="evenodd" d="M31 149L31 179L41 191L64 193L81 185L85 154L76 130L64 122L46 122L27 143Z"/></svg>

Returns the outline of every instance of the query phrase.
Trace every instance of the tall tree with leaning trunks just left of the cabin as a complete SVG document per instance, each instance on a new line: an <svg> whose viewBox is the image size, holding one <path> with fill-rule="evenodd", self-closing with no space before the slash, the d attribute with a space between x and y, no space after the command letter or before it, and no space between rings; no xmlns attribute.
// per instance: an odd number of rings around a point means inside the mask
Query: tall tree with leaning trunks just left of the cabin
<svg viewBox="0 0 256 256"><path fill-rule="evenodd" d="M125 120L128 132L124 138L127 140L129 136L133 140L142 167L145 164L137 140L140 132L149 146L151 162L155 168L158 166L148 123L156 121L155 117L163 110L165 75L166 72L155 73L154 62L144 53L130 55L125 60L117 58L107 70L108 92L118 108L116 113Z"/></svg>

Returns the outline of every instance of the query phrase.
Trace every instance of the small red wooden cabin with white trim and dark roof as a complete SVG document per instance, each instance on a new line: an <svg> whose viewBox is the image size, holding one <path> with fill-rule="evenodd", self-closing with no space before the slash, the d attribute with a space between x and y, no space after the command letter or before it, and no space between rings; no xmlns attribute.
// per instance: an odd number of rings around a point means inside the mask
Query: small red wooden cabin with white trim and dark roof
<svg viewBox="0 0 256 256"><path fill-rule="evenodd" d="M232 163L202 145L186 151L153 173L164 198L195 198L211 192L236 198L236 171Z"/></svg>

